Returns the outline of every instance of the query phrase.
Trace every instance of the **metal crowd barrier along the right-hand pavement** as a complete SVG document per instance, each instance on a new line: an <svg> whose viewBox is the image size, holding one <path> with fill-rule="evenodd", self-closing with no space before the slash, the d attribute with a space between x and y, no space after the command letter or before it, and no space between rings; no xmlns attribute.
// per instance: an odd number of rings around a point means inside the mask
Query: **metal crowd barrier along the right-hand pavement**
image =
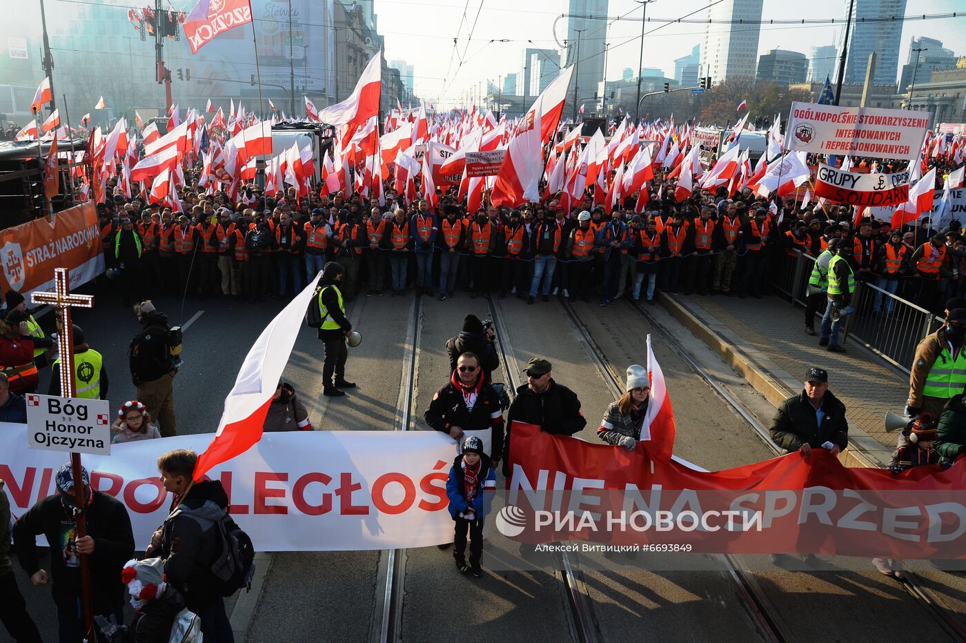
<svg viewBox="0 0 966 643"><path fill-rule="evenodd" d="M806 253L788 251L782 254L772 285L792 306L806 305L814 263L815 258ZM880 299L878 312L877 296ZM943 323L941 318L923 307L866 282L856 284L852 306L855 312L845 323L842 341L853 337L904 373L909 373L920 340ZM819 317L824 311L823 302Z"/></svg>

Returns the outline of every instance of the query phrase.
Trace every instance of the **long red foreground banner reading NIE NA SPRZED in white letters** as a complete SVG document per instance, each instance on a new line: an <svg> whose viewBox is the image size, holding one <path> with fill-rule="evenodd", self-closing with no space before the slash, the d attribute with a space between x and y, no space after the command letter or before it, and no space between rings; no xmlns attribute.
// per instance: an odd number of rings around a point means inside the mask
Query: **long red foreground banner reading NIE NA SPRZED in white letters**
<svg viewBox="0 0 966 643"><path fill-rule="evenodd" d="M724 471L514 423L500 533L698 553L966 558L966 459L902 473L825 449ZM663 548L660 548L663 547Z"/></svg>

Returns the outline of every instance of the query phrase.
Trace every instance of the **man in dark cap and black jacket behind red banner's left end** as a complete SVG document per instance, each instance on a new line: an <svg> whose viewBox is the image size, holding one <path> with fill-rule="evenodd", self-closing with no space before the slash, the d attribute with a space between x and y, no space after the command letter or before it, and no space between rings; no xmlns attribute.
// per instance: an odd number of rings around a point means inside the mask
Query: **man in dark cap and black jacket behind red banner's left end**
<svg viewBox="0 0 966 643"><path fill-rule="evenodd" d="M503 475L509 475L510 430L513 422L535 424L541 431L573 435L586 426L581 401L572 390L554 380L552 365L534 356L526 363L526 384L517 388L506 412L506 437L503 440Z"/></svg>

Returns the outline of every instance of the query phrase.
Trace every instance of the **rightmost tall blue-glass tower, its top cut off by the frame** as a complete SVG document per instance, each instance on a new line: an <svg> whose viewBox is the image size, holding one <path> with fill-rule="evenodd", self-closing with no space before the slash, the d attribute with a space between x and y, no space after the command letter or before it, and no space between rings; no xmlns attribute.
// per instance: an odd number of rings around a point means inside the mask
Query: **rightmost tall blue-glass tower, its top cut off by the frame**
<svg viewBox="0 0 966 643"><path fill-rule="evenodd" d="M875 85L895 85L898 70L899 43L902 39L901 20L863 22L869 18L888 18L905 15L906 0L854 0L852 34L848 42L845 62L845 82L863 83L866 80L868 54L875 52ZM845 0L848 14L849 0Z"/></svg>

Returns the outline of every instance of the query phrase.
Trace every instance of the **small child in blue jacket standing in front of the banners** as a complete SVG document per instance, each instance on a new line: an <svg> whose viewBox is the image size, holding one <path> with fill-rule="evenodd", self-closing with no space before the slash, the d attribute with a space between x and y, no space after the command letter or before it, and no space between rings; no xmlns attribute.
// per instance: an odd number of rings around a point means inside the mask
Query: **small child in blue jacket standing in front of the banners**
<svg viewBox="0 0 966 643"><path fill-rule="evenodd" d="M449 496L449 515L456 521L453 535L453 557L460 573L471 571L479 578L480 558L483 556L483 518L490 507L484 501L485 492L497 489L497 474L490 457L483 453L483 440L470 435L463 441L463 455L457 456L449 469L446 495ZM469 529L469 567L465 552Z"/></svg>

